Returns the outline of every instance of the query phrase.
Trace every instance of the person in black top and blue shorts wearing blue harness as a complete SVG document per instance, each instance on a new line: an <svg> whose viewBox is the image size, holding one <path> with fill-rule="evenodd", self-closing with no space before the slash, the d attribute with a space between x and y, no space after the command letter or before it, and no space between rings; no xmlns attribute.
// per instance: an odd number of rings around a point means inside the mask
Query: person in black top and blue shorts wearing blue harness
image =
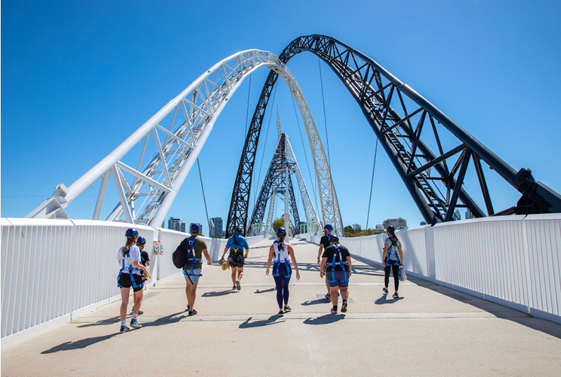
<svg viewBox="0 0 561 377"><path fill-rule="evenodd" d="M337 314L337 301L335 294L341 290L343 304L341 311L346 313L347 299L349 298L349 278L352 274L351 253L343 245L339 245L337 235L330 238L330 246L325 249L321 257L320 276L325 271L325 277L331 289L332 314Z"/></svg>

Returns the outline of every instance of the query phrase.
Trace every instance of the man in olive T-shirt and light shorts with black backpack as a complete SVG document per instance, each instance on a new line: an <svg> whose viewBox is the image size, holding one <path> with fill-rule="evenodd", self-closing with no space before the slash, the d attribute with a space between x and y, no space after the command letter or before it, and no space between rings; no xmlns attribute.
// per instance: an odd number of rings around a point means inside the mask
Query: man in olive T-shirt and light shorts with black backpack
<svg viewBox="0 0 561 377"><path fill-rule="evenodd" d="M187 254L187 263L183 267L183 275L185 278L185 296L187 296L187 310L189 315L196 315L195 299L197 294L197 285L201 279L203 270L203 254L205 254L206 261L212 265L210 254L206 247L205 240L198 238L201 232L201 226L198 224L191 224L191 235L180 243L180 247L184 248Z"/></svg>

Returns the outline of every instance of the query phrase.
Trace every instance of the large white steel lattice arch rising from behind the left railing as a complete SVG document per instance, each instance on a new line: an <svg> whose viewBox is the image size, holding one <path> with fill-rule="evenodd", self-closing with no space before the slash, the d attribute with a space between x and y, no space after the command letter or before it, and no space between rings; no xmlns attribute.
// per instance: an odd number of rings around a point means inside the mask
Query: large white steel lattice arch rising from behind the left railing
<svg viewBox="0 0 561 377"><path fill-rule="evenodd" d="M243 79L260 67L276 71L288 84L297 101L316 161L316 177L322 198L324 222L331 222L336 231L342 234L339 205L329 166L302 90L285 64L276 55L264 50L236 53L205 71L100 163L72 185L58 185L53 196L26 217L67 218L64 208L97 179L103 177L93 214L93 219L99 219L109 176L112 175L119 194L119 204L114 207L107 220L158 226L168 214L173 200L210 135L216 118ZM141 171L151 135L154 136L157 151ZM144 148L137 167L123 163L121 159L136 144L142 142L142 139ZM128 173L129 179L123 172Z"/></svg>

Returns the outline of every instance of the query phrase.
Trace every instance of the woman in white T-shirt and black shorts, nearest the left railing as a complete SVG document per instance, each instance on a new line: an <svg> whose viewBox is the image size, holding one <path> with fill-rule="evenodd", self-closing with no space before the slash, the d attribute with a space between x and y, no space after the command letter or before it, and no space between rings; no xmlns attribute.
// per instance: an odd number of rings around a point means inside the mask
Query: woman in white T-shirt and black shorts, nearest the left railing
<svg viewBox="0 0 561 377"><path fill-rule="evenodd" d="M126 326L126 316L131 287L137 295L137 302L133 311L133 318L130 320L130 327L135 329L142 327L142 324L137 320L138 310L140 310L142 305L142 288L144 288L141 271L144 273L148 272L147 268L140 264L140 249L135 245L138 238L137 230L128 228L125 232L125 237L127 238L125 246L121 247L119 252L117 252L117 259L119 260L119 266L121 266L119 276L117 277L117 285L121 289L121 310L119 312L121 317L121 333L130 330Z"/></svg>

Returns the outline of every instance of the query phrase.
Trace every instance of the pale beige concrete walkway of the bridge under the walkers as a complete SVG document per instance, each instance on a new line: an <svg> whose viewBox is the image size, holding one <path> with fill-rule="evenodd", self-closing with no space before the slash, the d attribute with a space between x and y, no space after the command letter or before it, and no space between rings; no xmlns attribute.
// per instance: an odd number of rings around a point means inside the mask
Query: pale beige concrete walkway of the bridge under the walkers
<svg viewBox="0 0 561 377"><path fill-rule="evenodd" d="M145 292L142 329L119 334L111 303L2 348L1 376L561 376L561 325L414 278L393 300L383 270L360 261L349 311L328 314L318 246L291 243L302 277L284 317L263 242L239 292L229 270L203 268L198 315L178 275Z"/></svg>

